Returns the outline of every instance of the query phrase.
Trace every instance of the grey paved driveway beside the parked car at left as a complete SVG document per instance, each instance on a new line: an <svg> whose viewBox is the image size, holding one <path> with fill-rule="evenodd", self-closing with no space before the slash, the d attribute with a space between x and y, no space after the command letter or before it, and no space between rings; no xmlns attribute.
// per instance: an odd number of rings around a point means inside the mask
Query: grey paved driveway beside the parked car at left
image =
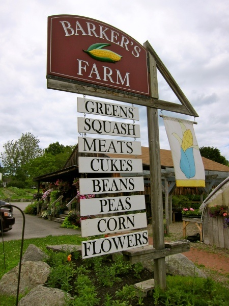
<svg viewBox="0 0 229 306"><path fill-rule="evenodd" d="M19 207L22 211L30 202L12 202L12 205ZM21 212L13 207L13 215L15 217L15 224L13 229L9 232L0 233L0 241L4 238L4 241L21 239L23 216ZM72 228L63 228L61 223L53 222L42 219L37 216L25 215L25 230L24 239L27 238L40 238L48 235L61 236L61 235L80 235L80 231L73 230Z"/></svg>

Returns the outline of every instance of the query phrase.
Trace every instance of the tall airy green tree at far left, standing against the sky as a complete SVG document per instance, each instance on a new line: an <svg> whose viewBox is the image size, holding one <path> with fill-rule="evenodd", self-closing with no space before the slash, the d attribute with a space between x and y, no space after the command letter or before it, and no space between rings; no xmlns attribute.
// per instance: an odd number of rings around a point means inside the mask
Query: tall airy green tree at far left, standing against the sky
<svg viewBox="0 0 229 306"><path fill-rule="evenodd" d="M18 140L8 140L1 153L5 174L24 182L28 176L26 165L43 153L39 142L30 132L22 134Z"/></svg>

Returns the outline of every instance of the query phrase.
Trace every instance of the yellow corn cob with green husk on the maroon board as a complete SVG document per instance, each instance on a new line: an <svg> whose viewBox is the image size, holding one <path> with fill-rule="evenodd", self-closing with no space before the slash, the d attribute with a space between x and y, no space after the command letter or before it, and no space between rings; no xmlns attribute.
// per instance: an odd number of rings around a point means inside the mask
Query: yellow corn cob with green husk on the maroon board
<svg viewBox="0 0 229 306"><path fill-rule="evenodd" d="M122 56L107 49L102 49L110 46L109 43L95 43L92 44L88 50L83 50L88 53L93 59L101 62L116 63L121 60Z"/></svg>

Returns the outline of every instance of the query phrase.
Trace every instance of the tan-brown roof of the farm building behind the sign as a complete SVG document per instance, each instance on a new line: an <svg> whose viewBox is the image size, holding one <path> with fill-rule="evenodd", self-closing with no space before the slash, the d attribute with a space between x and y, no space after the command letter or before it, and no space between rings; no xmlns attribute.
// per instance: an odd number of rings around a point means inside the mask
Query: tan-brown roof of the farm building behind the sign
<svg viewBox="0 0 229 306"><path fill-rule="evenodd" d="M113 157L113 158L115 157L116 158L130 158L130 155L123 155L123 154L122 155L121 154L106 154L106 155L108 157ZM141 147L141 155L137 155L137 158L142 159L143 165L149 165L150 164L149 148ZM160 159L161 159L161 167L174 168L174 163L173 163L173 159L172 159L170 150L160 149ZM202 157L202 160L203 160L205 170L229 172L228 166L222 165L220 163L216 163L205 157Z"/></svg>

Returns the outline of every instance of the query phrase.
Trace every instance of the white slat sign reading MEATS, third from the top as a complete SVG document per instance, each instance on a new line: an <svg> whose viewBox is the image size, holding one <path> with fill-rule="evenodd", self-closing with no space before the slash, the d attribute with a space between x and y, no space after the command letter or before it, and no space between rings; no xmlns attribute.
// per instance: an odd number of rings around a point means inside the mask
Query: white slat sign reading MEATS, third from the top
<svg viewBox="0 0 229 306"><path fill-rule="evenodd" d="M111 153L141 155L140 141L78 137L78 151L85 153Z"/></svg>

